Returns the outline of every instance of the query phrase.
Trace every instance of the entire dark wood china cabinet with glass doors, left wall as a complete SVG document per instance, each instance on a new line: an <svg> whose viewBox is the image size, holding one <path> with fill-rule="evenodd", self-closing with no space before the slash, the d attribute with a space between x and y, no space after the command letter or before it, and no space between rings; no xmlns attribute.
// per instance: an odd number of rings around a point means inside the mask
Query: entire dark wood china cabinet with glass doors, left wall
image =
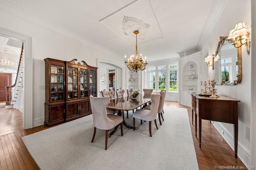
<svg viewBox="0 0 256 170"><path fill-rule="evenodd" d="M84 61L45 61L45 121L47 126L91 114L89 96L96 96L97 68Z"/></svg>

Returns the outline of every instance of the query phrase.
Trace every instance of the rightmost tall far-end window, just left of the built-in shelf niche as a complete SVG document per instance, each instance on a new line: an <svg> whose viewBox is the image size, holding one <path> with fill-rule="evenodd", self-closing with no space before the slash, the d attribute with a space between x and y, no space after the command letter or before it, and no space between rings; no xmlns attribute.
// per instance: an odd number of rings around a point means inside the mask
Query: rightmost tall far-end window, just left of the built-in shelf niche
<svg viewBox="0 0 256 170"><path fill-rule="evenodd" d="M169 65L170 92L177 92L177 89L178 89L177 73L178 73L178 64L170 64Z"/></svg>

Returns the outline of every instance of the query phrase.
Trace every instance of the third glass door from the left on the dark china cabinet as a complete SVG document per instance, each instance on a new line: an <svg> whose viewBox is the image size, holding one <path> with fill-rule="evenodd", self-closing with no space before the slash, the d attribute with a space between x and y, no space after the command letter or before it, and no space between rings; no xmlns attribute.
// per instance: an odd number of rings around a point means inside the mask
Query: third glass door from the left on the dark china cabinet
<svg viewBox="0 0 256 170"><path fill-rule="evenodd" d="M80 68L80 98L88 97L88 70Z"/></svg>

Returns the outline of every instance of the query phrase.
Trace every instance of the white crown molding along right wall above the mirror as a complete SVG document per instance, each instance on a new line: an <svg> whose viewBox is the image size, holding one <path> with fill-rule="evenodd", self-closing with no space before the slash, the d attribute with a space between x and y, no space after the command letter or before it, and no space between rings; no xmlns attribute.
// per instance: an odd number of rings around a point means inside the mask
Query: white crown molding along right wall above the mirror
<svg viewBox="0 0 256 170"><path fill-rule="evenodd" d="M206 25L204 26L204 29L203 29L201 36L198 40L198 43L196 45L196 50L201 51L201 49L204 45L204 42L209 37L209 35L212 31L212 28L216 24L216 21L218 20L220 14L224 10L227 2L228 2L227 0L216 0L214 2L210 16L208 18L208 21L207 21Z"/></svg>

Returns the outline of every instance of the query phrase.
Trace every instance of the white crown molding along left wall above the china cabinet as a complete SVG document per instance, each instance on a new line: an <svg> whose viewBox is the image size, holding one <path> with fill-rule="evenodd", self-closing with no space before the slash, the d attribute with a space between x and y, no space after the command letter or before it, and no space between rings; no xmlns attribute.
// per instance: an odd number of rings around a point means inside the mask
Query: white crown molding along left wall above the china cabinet
<svg viewBox="0 0 256 170"><path fill-rule="evenodd" d="M39 16L35 14L34 12L31 12L21 6L18 6L17 4L14 4L13 2L10 2L8 0L1 0L0 1L0 10L3 12L6 12L12 16L16 16L22 20L28 21L30 23L33 23L35 25L38 25L40 27L43 27L45 29L48 29L50 31L53 31L54 33L58 33L60 35L63 35L65 37L68 37L74 41L77 41L79 43L82 43L88 47L92 47L96 50L100 50L102 52L108 53L110 55L114 55L115 57L120 57L121 55L118 53L115 53L114 51L111 51L110 49L103 47L102 45L99 45L97 43L94 43L93 41L86 39L85 37L82 37L81 35L70 31L69 29L66 29L65 27L62 27L50 20L47 20L46 18L43 18L42 16Z"/></svg>

